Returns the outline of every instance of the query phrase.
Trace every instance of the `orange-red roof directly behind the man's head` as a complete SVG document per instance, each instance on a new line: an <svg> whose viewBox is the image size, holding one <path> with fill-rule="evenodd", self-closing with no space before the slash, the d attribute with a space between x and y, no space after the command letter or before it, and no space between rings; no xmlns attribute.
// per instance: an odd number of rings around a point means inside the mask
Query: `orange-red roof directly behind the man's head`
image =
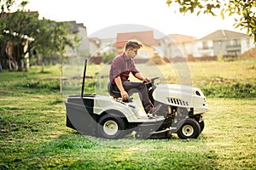
<svg viewBox="0 0 256 170"><path fill-rule="evenodd" d="M131 39L140 41L148 46L154 45L153 31L137 31L118 33L115 43L116 48L123 48L125 43Z"/></svg>

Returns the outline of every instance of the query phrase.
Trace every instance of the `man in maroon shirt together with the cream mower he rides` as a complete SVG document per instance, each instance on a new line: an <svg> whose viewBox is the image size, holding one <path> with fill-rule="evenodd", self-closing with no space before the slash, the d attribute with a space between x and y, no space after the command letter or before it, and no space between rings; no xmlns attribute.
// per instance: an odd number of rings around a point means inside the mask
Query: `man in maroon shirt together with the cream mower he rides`
<svg viewBox="0 0 256 170"><path fill-rule="evenodd" d="M159 77L143 77L133 58L141 45L127 42L125 53L113 59L109 71L110 96L70 95L65 102L67 127L80 133L107 139L120 139L135 132L137 139L170 138L196 139L204 128L203 114L207 101L199 88L177 84L158 84ZM87 59L84 64L84 78ZM143 82L130 82L130 72ZM137 92L143 109L129 98Z"/></svg>

